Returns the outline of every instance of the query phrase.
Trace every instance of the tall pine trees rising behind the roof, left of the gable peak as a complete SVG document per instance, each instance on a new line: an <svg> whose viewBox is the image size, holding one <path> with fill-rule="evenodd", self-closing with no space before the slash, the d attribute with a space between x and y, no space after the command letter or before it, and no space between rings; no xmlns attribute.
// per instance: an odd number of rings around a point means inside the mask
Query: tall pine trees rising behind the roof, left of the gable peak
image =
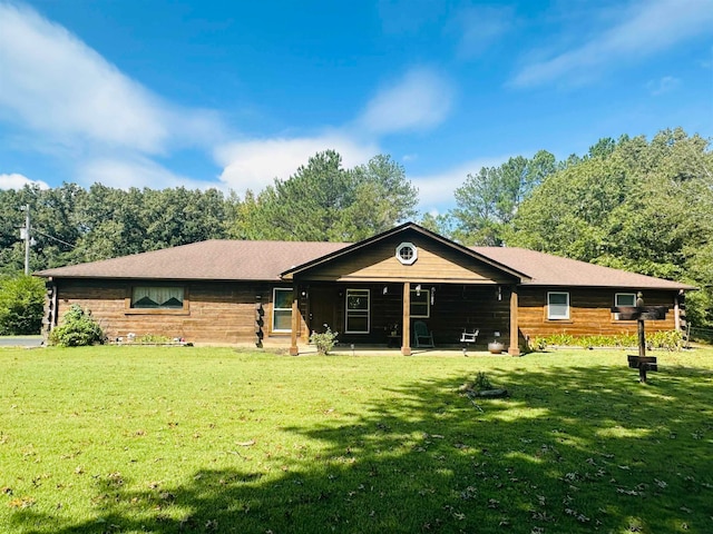
<svg viewBox="0 0 713 534"><path fill-rule="evenodd" d="M353 241L416 215L418 191L388 156L344 169L334 150L318 152L287 180L276 178L237 209L232 235L253 239Z"/></svg>

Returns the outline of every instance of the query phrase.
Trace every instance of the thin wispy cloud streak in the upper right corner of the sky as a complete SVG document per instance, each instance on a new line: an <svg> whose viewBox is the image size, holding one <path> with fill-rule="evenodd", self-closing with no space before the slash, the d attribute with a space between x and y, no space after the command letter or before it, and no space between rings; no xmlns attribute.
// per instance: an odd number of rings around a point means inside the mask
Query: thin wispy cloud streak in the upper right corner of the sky
<svg viewBox="0 0 713 534"><path fill-rule="evenodd" d="M615 69L622 62L713 32L711 0L641 0L618 13L616 24L577 48L525 67L512 85L539 86L561 78L585 81L600 70Z"/></svg>

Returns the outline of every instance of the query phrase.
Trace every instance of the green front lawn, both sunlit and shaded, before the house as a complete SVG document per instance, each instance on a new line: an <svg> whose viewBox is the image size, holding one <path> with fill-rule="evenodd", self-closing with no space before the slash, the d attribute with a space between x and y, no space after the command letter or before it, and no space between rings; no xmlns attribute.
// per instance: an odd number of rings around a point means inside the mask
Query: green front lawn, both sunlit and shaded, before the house
<svg viewBox="0 0 713 534"><path fill-rule="evenodd" d="M657 356L0 349L0 532L713 532L713 349Z"/></svg>

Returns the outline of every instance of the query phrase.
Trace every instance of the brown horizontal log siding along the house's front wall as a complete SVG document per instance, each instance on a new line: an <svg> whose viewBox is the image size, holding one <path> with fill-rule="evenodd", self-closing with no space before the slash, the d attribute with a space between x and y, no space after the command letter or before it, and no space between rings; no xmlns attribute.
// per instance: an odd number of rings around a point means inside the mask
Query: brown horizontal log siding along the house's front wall
<svg viewBox="0 0 713 534"><path fill-rule="evenodd" d="M395 250L395 245L392 250ZM421 258L419 258L420 260ZM511 286L507 284L445 284L428 278L412 278L411 288L421 285L432 291L433 303L423 320L437 347L459 346L462 330L479 329L477 347L500 334L499 340L509 346ZM140 283L146 285L146 283ZM176 286L176 283L169 285ZM105 328L110 339L126 338L127 334L182 337L199 344L254 344L256 340L256 296L261 296L264 309L263 342L265 345L290 346L290 334L272 334L272 298L274 287L290 284L268 283L186 283L185 310L156 312L129 309L131 283L128 280L56 280L56 314L61 317L70 305L89 309ZM368 334L344 334L346 289L370 290L370 328ZM385 291L384 291L385 289ZM547 319L548 290L569 293L569 319ZM392 325L403 332L403 283L320 283L302 281L295 286L300 320L300 345L307 343L311 330L322 332L324 324L339 332L339 340L345 344L383 344ZM518 288L518 345L526 338L551 334L616 335L636 332L636 322L615 320L611 312L615 294L635 293L635 289L577 288ZM668 306L665 320L647 322L647 332L675 328L674 291L647 291L646 305ZM409 325L409 326L411 326Z"/></svg>

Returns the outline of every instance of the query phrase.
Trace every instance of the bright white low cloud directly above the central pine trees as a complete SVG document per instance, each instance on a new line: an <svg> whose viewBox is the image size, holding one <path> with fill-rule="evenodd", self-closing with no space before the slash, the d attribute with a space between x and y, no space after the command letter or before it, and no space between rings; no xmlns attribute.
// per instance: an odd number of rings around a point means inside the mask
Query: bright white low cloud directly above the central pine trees
<svg viewBox="0 0 713 534"><path fill-rule="evenodd" d="M244 194L261 191L274 178L287 179L297 167L306 165L316 152L333 149L342 156L344 167L364 164L379 154L373 144L360 144L338 132L316 137L250 139L218 147L215 159L224 167L221 181Z"/></svg>

